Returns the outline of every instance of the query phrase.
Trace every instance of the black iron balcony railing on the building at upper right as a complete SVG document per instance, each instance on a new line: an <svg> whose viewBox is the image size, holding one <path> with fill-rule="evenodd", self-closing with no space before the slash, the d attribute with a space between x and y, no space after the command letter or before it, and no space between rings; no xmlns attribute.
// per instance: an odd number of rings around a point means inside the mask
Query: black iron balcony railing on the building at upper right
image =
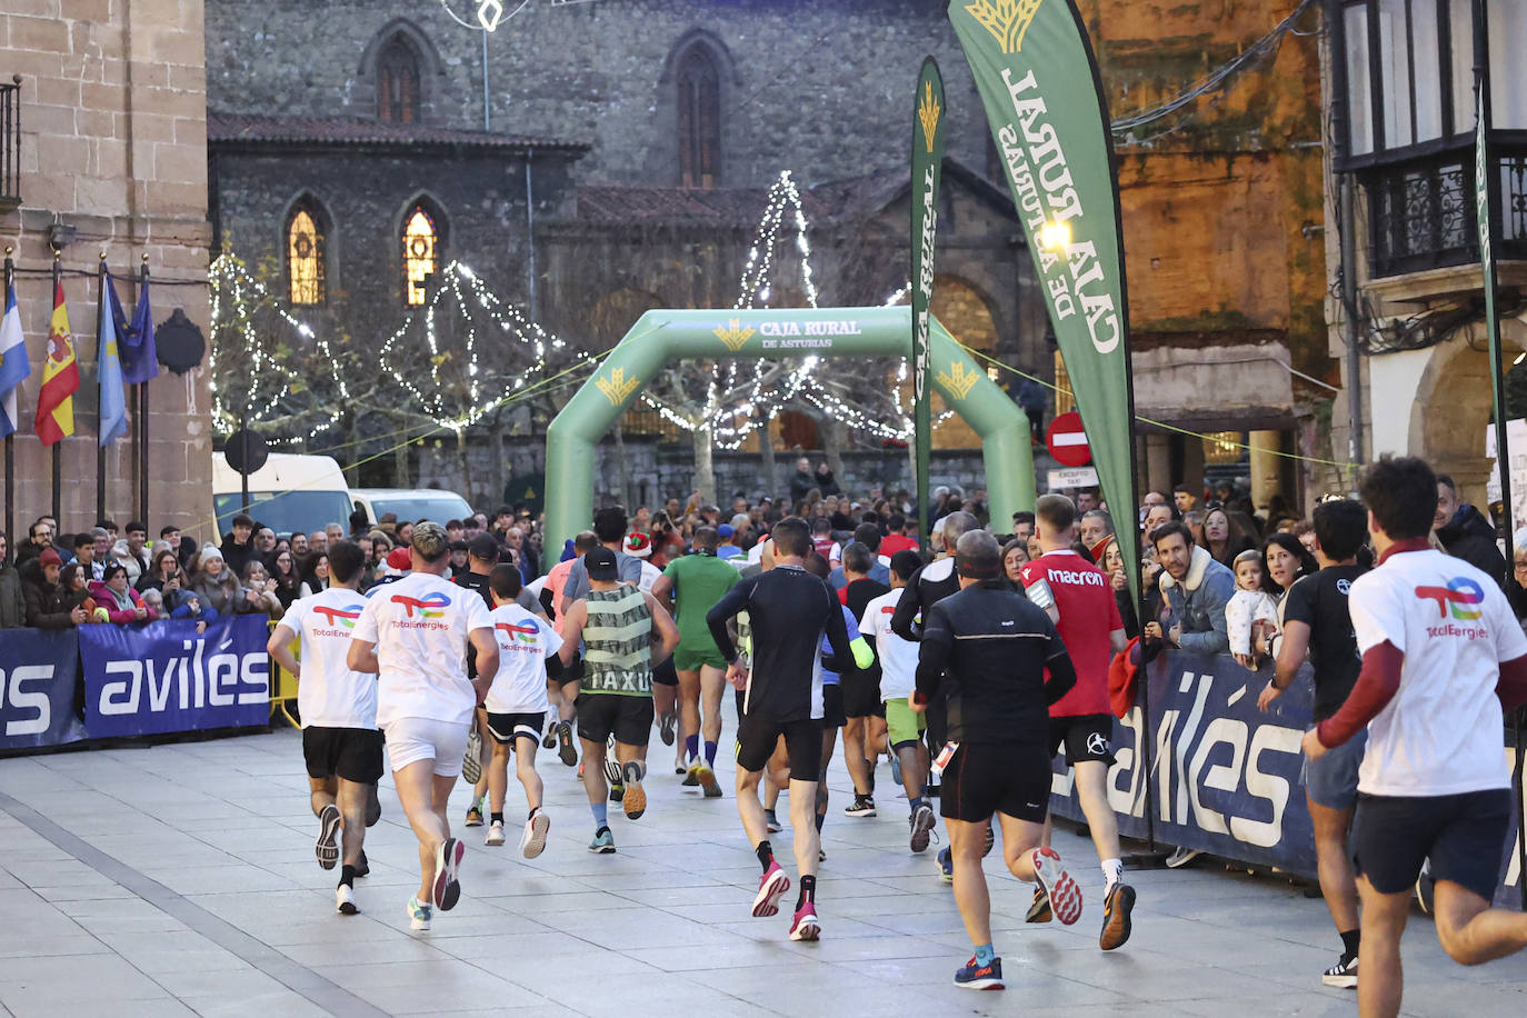
<svg viewBox="0 0 1527 1018"><path fill-rule="evenodd" d="M1480 259L1474 147L1358 171L1368 203L1374 279ZM1527 259L1527 143L1492 143L1500 208L1498 259Z"/></svg>

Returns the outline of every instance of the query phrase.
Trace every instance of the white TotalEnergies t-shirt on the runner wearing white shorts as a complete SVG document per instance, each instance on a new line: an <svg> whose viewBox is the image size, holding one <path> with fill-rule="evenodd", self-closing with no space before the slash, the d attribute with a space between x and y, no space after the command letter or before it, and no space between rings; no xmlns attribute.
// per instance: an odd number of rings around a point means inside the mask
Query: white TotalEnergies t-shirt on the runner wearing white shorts
<svg viewBox="0 0 1527 1018"><path fill-rule="evenodd" d="M467 633L492 627L476 591L432 572L412 572L376 589L353 638L377 647L377 725L386 728L400 717L467 723L476 705L467 679Z"/></svg>

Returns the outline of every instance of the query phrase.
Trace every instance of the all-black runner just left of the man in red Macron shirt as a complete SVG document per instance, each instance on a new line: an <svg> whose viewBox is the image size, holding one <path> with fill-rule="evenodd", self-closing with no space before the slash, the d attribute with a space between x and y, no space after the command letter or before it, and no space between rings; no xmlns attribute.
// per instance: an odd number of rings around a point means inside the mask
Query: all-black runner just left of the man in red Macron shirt
<svg viewBox="0 0 1527 1018"><path fill-rule="evenodd" d="M976 955L954 972L954 984L1002 989L980 865L983 827L993 813L1002 823L1008 870L1038 884L1063 923L1081 917L1081 888L1060 853L1044 846L1049 707L1077 684L1077 672L1049 617L1006 586L1002 549L991 534L962 536L956 559L960 592L922 617L912 710L924 711L933 699L948 707L950 742L939 752L948 780L939 807L954 856L954 900L976 946Z"/></svg>

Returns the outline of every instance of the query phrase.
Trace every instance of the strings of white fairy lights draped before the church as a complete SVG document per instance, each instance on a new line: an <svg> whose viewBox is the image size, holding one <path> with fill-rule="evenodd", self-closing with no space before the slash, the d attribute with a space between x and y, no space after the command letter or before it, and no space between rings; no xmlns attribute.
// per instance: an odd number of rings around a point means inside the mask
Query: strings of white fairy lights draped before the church
<svg viewBox="0 0 1527 1018"><path fill-rule="evenodd" d="M794 234L791 238L789 234ZM820 292L812 269L809 223L800 189L789 171L780 172L771 185L764 214L759 218L747 261L738 281L736 310L767 307L777 292L776 267L780 264L780 247L793 243L799 255L800 295L806 305L818 308ZM295 395L293 372L279 360L279 345L272 350L272 337L263 336L257 327L253 308L269 307L292 331L310 340L327 368L327 385L337 398L330 400L310 418L305 440L313 440L336 426L344 408L351 401L351 389L345 372L334 357L330 340L308 324L299 321L282 301L275 299L267 287L257 279L237 256L224 253L209 267L212 282L212 334L209 368L212 369L212 414L220 429L234 430L241 421L252 424L270 423L281 417L287 400ZM910 282L892 293L884 305L902 304L910 293ZM461 321L460 357L464 368L447 369L458 353L441 340L440 319L446 311L444 301L454 302L454 311ZM479 321L479 316L483 321ZM409 371L406 339L423 325L423 342L428 350L428 371ZM528 357L528 362L489 365L484 362L486 339L479 330L498 330L513 340ZM229 368L234 377L223 377L218 353L223 337L232 337L241 357L237 368ZM293 343L296 345L296 343ZM539 322L527 319L518 307L493 293L483 278L467 264L454 261L446 266L429 302L412 310L408 317L382 343L374 360L388 380L406 394L408 401L420 417L434 424L434 430L449 430L457 435L483 421L507 397L525 389L527 379L536 379L548 371L550 360L567 362L570 368L594 368L599 357L588 350L548 333ZM728 359L710 371L705 380L705 397L690 409L678 406L652 392L651 386L640 394L641 404L655 411L664 421L687 432L705 429L718 449L736 450L756 430L770 423L789 406L808 406L829 417L849 430L872 435L880 440L909 441L913 433L912 412L902 404L902 383L907 380L906 359L896 366L896 385L890 389L893 421L880 420L875 414L832 391L832 380L820 371L820 357L808 356L799 362L768 362L754 359L751 377L742 375L738 359ZM308 359L310 369L318 365ZM417 365L415 365L417 366ZM428 382L426 382L428 379ZM935 420L935 427L953 417L945 411ZM299 443L304 437L273 441Z"/></svg>

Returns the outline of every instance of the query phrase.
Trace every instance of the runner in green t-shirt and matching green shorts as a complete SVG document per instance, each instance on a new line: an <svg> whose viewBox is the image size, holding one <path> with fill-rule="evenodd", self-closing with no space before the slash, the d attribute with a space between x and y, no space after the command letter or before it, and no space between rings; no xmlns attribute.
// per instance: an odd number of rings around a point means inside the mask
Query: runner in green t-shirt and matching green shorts
<svg viewBox="0 0 1527 1018"><path fill-rule="evenodd" d="M727 684L725 661L705 626L709 612L721 597L736 586L736 566L716 557L719 531L701 527L695 531L695 554L675 559L652 586L658 603L667 606L678 598L678 650L673 668L678 672L680 734L684 739L686 784L705 789L705 798L721 798L716 781L716 745L721 742L721 693ZM704 736L705 755L699 755Z"/></svg>

